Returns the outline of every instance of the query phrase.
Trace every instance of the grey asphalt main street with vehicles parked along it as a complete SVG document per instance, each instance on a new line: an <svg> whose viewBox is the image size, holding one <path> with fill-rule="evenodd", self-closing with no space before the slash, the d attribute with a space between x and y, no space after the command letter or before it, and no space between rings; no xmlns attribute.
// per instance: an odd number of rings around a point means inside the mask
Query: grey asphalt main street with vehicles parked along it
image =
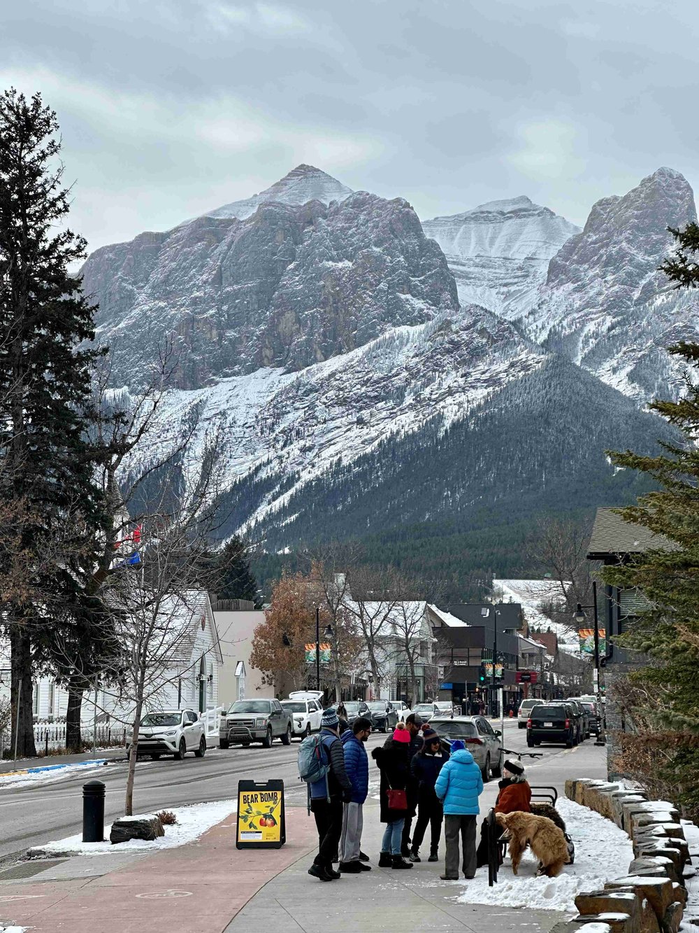
<svg viewBox="0 0 699 933"><path fill-rule="evenodd" d="M384 735L373 735L369 748L382 744L385 738ZM560 792L567 777L603 777L606 773L605 749L593 743L594 739L588 739L573 749L541 745L536 749L542 753L541 759L524 759L530 783L552 785ZM505 722L504 745L517 752L529 751L526 733L519 731L515 722ZM188 755L184 761L161 759L140 762L136 772L134 811L152 813L186 803L226 800L236 796L240 779L265 780L271 777L283 780L288 805L303 805L306 786L298 779L297 750L297 742L291 746L275 742L268 749L259 745L227 751L210 749L203 759ZM374 763L370 762L369 767L370 776L376 778ZM90 775L90 779L93 776ZM109 823L124 812L126 762L106 765L96 776L106 787L105 817ZM78 773L53 784L0 788L0 859L21 854L30 846L79 832L85 780L85 774ZM497 789L497 781L490 782L481 810L492 805Z"/></svg>

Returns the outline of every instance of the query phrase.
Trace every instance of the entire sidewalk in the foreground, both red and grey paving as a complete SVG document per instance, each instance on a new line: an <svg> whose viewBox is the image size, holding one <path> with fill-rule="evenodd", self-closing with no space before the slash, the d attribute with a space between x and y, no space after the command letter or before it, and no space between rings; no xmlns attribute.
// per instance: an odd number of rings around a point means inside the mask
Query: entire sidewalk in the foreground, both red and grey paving
<svg viewBox="0 0 699 933"><path fill-rule="evenodd" d="M383 828L377 801L367 802L363 847L374 869L361 876L331 884L308 876L316 833L305 808L287 810L289 842L281 849L238 851L232 815L199 842L153 856L115 847L106 856L21 863L18 873L39 873L7 881L0 874L0 926L12 922L35 933L123 933L144 926L149 933L171 933L176 917L178 933L512 933L523 927L548 933L561 919L559 912L459 904L455 898L465 886L441 882L440 864L377 869Z"/></svg>

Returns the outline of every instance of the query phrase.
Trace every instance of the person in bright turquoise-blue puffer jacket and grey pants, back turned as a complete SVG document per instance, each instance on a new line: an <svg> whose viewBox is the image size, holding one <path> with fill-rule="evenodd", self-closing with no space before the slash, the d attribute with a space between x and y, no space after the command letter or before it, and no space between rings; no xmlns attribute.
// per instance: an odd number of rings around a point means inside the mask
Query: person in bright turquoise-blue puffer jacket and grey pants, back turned
<svg viewBox="0 0 699 933"><path fill-rule="evenodd" d="M475 818L483 792L481 769L460 739L451 744L451 757L434 784L445 814L446 858L443 881L459 881L459 835L463 848L463 874L475 875Z"/></svg>

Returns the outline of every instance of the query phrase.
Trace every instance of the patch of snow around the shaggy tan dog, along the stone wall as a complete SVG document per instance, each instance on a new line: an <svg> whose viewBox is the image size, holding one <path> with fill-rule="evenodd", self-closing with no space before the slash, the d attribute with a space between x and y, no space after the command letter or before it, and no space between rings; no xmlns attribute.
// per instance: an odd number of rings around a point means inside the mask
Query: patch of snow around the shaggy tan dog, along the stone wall
<svg viewBox="0 0 699 933"><path fill-rule="evenodd" d="M575 897L595 891L605 882L628 873L634 853L628 836L604 816L578 803L558 798L556 809L566 822L575 844L575 863L566 865L557 878L537 878L537 859L528 849L514 876L510 858L498 874L498 884L487 886L487 870L479 869L472 881L463 881L462 904L498 904L533 910L575 912Z"/></svg>

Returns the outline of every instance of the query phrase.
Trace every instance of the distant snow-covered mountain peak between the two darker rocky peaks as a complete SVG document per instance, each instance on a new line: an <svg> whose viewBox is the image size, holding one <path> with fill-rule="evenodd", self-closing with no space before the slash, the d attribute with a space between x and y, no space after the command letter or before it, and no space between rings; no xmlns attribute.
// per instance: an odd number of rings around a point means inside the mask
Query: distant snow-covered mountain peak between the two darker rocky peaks
<svg viewBox="0 0 699 933"><path fill-rule="evenodd" d="M462 304L521 316L546 280L549 260L579 227L527 197L480 204L422 223L445 252Z"/></svg>

